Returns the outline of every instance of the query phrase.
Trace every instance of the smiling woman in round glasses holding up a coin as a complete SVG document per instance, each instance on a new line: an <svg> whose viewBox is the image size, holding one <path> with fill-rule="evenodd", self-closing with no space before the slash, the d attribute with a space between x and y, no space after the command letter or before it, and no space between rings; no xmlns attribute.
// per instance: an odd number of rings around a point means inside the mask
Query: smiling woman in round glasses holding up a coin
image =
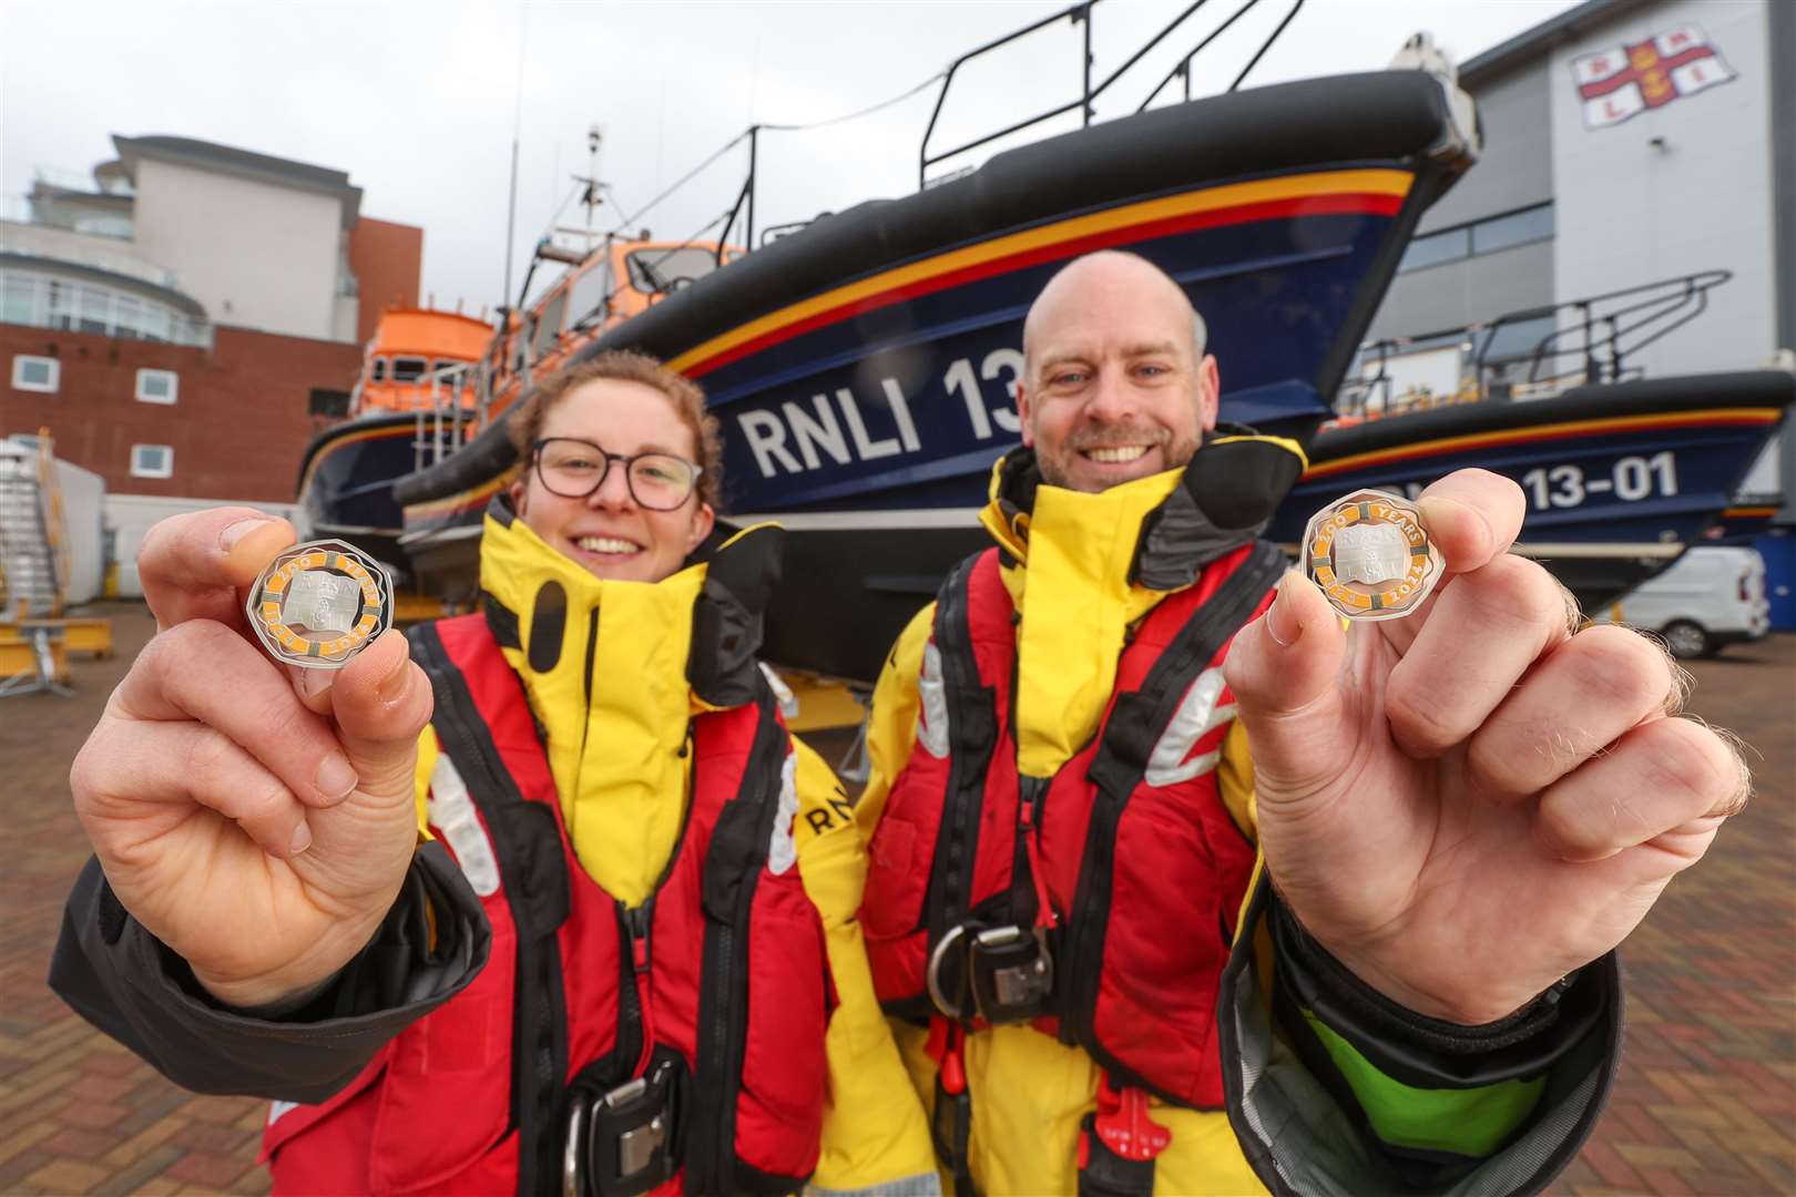
<svg viewBox="0 0 1796 1197"><path fill-rule="evenodd" d="M311 1102L271 1111L277 1192L929 1192L853 922L858 840L753 659L781 533L702 549L717 425L647 357L550 379L512 427L483 610L413 630L417 666L383 639L329 691L295 677L300 709L239 637L192 630L291 531L158 529L140 569L174 626L77 761L110 887L90 867L52 982L183 1084ZM201 644L239 702L169 668ZM199 770L145 788L145 748ZM180 957L160 985L154 940Z"/></svg>

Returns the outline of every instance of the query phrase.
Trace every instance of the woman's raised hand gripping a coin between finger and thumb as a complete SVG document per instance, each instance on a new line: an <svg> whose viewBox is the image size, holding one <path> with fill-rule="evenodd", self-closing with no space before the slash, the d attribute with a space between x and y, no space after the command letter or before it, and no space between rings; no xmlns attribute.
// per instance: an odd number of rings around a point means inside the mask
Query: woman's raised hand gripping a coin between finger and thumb
<svg viewBox="0 0 1796 1197"><path fill-rule="evenodd" d="M406 637L334 673L275 664L251 639L244 592L293 538L250 508L151 529L138 576L158 633L70 772L113 894L241 1007L361 951L417 845L431 686Z"/></svg>

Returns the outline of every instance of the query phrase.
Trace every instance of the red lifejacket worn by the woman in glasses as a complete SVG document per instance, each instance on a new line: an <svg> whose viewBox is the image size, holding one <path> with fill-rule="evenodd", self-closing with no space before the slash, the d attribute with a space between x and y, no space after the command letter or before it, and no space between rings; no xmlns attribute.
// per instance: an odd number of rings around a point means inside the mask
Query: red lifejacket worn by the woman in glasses
<svg viewBox="0 0 1796 1197"><path fill-rule="evenodd" d="M264 1136L275 1190L562 1192L575 1111L584 1175L654 1159L585 1193L801 1188L817 1165L833 994L797 865L769 867L774 820L794 811L779 809L790 743L765 684L691 721L679 845L627 910L575 860L487 619L409 639L497 861L481 896L492 958L330 1102L277 1109Z"/></svg>

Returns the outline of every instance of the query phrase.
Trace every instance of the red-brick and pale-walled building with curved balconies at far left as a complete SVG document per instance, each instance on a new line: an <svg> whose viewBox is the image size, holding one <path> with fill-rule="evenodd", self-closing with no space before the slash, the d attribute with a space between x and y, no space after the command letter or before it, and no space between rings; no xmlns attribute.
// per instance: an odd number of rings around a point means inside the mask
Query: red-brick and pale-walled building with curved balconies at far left
<svg viewBox="0 0 1796 1197"><path fill-rule="evenodd" d="M0 438L48 429L106 483L106 556L135 592L158 519L291 511L388 307L418 300L424 230L361 214L348 174L176 136L115 136L0 221Z"/></svg>

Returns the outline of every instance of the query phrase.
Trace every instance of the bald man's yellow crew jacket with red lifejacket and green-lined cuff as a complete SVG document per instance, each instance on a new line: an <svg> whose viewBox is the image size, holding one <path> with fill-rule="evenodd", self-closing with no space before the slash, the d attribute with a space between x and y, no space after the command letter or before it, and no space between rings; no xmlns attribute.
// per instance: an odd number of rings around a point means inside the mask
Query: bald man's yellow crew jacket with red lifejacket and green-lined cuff
<svg viewBox="0 0 1796 1197"><path fill-rule="evenodd" d="M1340 965L1286 948L1221 664L1284 569L1254 537L1300 463L1223 436L1189 470L1088 495L1017 450L982 515L997 547L887 660L860 921L957 1192L1383 1192L1399 1174L1532 1192L1600 1107L1606 980L1550 1048L1422 1077L1387 1062L1403 1050L1374 1018L1329 1025L1363 987L1318 983ZM1570 1043L1584 1088L1546 1100Z"/></svg>

